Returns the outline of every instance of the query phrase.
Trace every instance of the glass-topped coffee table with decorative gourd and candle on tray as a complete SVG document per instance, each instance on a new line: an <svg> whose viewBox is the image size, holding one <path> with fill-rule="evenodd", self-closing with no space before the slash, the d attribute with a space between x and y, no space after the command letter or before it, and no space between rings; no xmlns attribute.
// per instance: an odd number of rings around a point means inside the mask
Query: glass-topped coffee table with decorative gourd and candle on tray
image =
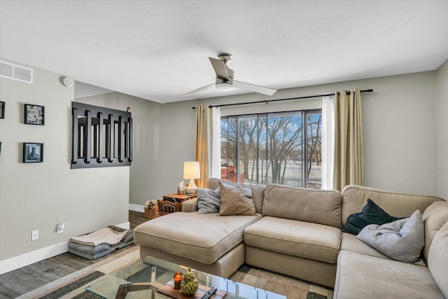
<svg viewBox="0 0 448 299"><path fill-rule="evenodd" d="M178 298L163 295L163 290L174 291L172 279L174 273L185 272L187 267L169 263L166 260L146 256L137 263L118 270L115 274L105 274L86 290L95 293L102 298ZM213 286L218 288L218 292L211 296L213 298L246 298L246 299L286 299L286 296L269 291L241 284L239 282L218 277L198 270L193 270L199 280L200 291L205 293ZM171 285L171 286L170 286ZM165 293L165 292L164 292ZM199 296L190 298L201 298ZM183 297L179 297L183 298Z"/></svg>

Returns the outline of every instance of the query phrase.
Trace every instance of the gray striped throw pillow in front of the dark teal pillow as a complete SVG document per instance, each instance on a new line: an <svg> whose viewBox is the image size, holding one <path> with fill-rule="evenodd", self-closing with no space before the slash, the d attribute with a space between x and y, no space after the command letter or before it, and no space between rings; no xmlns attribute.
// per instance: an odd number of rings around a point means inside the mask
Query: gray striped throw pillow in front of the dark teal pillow
<svg viewBox="0 0 448 299"><path fill-rule="evenodd" d="M367 225L356 237L389 258L416 263L425 244L423 218L416 210L408 218L383 225Z"/></svg>

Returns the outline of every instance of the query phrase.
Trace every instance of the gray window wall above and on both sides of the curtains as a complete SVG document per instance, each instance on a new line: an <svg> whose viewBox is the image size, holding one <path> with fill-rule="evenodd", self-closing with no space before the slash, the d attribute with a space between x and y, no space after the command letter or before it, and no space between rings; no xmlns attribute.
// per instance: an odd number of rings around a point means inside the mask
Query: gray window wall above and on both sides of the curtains
<svg viewBox="0 0 448 299"><path fill-rule="evenodd" d="M321 95L357 87L374 89L372 93L363 94L365 186L437 195L435 71L279 90L272 99ZM151 162L157 174L150 175L152 178L155 175L157 181L151 180L155 186L149 195L158 197L161 193L176 190L182 179L183 161L194 158L195 112L191 106L266 98L248 94L164 104L160 120L163 134L159 144L160 151L167 155ZM318 105L316 100L305 100L239 106L222 112L241 114L269 109L266 107L282 111Z"/></svg>

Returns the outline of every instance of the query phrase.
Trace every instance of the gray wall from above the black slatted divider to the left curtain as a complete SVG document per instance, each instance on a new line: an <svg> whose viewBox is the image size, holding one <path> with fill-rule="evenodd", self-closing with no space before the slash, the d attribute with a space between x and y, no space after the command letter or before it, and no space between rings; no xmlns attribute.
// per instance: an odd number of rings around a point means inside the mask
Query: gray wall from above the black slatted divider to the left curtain
<svg viewBox="0 0 448 299"><path fill-rule="evenodd" d="M76 102L119 110L131 107L134 151L130 204L143 205L146 200L176 192L183 179L183 162L195 160L194 101L158 104L113 92Z"/></svg>

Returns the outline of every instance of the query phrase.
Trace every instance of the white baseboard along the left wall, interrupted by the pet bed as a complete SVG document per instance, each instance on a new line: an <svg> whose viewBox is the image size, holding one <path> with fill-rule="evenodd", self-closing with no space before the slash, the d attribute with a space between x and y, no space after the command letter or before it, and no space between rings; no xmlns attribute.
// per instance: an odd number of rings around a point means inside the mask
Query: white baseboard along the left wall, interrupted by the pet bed
<svg viewBox="0 0 448 299"><path fill-rule="evenodd" d="M127 221L116 226L129 230L130 222ZM59 254L67 251L69 251L69 241L51 245L29 253L24 253L21 256L15 256L13 258L8 258L7 260L0 260L0 274L17 270L18 268L40 262L41 260L45 260L47 258L52 258L53 256L58 256Z"/></svg>

